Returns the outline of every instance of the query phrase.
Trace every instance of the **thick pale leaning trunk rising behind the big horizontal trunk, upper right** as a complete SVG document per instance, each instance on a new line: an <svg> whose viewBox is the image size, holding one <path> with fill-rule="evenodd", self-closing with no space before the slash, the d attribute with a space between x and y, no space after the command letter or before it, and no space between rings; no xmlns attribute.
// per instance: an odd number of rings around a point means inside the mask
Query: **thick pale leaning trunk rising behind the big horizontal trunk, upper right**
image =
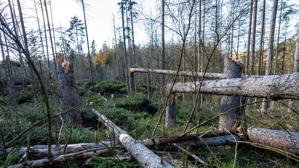
<svg viewBox="0 0 299 168"><path fill-rule="evenodd" d="M274 32L275 32L275 21L276 21L276 13L277 13L277 4L278 0L273 1L272 6L272 14L271 14L271 23L270 23L270 34L269 34L269 48L267 55L267 65L266 65L266 75L271 75L272 69L272 59L273 59L273 44L274 44ZM265 115L268 110L268 102L266 99L263 100L262 103L262 115Z"/></svg>

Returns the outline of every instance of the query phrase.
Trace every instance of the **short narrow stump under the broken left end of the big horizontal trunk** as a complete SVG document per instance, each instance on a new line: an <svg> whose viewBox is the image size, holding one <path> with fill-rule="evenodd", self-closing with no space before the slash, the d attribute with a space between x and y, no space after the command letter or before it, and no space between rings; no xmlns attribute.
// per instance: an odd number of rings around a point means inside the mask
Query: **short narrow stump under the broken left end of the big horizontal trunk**
<svg viewBox="0 0 299 168"><path fill-rule="evenodd" d="M165 128L176 126L176 97L174 93L170 93L168 105L166 106Z"/></svg>

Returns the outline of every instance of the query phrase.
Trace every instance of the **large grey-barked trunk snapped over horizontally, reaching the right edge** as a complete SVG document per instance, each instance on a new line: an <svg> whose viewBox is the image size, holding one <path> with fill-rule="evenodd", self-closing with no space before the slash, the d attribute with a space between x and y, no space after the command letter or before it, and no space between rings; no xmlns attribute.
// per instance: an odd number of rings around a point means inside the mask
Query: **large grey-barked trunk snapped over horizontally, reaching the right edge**
<svg viewBox="0 0 299 168"><path fill-rule="evenodd" d="M199 82L196 82L199 86ZM166 86L170 89L171 84ZM196 87L198 88L198 87ZM173 92L195 93L195 83L176 83ZM268 98L299 99L299 73L203 81L200 93Z"/></svg>

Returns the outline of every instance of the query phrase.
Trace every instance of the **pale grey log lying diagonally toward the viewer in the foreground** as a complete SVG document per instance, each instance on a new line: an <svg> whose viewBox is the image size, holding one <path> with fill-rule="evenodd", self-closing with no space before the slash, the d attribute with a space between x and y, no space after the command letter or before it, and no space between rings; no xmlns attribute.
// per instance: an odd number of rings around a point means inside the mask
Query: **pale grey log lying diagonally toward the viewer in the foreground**
<svg viewBox="0 0 299 168"><path fill-rule="evenodd" d="M161 163L161 158L156 155L151 150L147 149L142 143L136 141L132 138L126 131L123 131L118 126L116 126L107 117L100 114L96 110L93 112L99 117L100 121L104 123L105 126L111 132L114 132L115 138L126 148L126 150L140 163L144 168L171 168L170 164L167 162Z"/></svg>

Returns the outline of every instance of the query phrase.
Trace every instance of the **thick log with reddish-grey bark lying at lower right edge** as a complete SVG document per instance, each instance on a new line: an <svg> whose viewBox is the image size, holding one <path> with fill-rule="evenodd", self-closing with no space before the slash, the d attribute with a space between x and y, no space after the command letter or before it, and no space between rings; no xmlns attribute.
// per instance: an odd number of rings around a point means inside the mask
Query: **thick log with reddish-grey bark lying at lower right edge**
<svg viewBox="0 0 299 168"><path fill-rule="evenodd" d="M299 155L299 133L286 132L260 127L249 127L248 138L251 142L281 149Z"/></svg>

